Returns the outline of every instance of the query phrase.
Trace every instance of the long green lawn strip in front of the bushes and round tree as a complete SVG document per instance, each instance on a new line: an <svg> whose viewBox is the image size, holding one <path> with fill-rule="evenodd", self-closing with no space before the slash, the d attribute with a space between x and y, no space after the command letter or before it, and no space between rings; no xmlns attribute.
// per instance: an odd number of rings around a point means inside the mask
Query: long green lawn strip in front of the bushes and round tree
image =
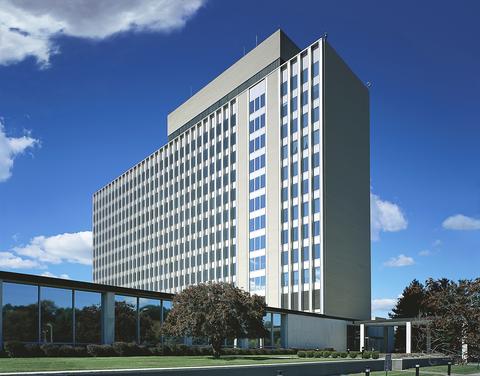
<svg viewBox="0 0 480 376"><path fill-rule="evenodd" d="M292 362L325 362L341 359L298 358L296 355L222 356L132 356L97 358L3 358L0 372L71 371L89 369L133 369L168 367L206 367L242 364L272 364ZM353 359L352 359L353 360Z"/></svg>

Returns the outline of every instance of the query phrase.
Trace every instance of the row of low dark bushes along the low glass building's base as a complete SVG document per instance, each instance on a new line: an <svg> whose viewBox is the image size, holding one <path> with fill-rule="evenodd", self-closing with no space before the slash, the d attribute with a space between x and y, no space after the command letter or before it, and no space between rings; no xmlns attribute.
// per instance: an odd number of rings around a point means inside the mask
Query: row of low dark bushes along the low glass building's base
<svg viewBox="0 0 480 376"><path fill-rule="evenodd" d="M224 355L294 355L296 349L222 349ZM0 354L1 355L1 354ZM115 342L113 345L70 346L54 344L28 344L18 341L5 343L5 356L26 357L82 357L82 356L161 356L212 355L211 347L186 345L144 346L136 343Z"/></svg>

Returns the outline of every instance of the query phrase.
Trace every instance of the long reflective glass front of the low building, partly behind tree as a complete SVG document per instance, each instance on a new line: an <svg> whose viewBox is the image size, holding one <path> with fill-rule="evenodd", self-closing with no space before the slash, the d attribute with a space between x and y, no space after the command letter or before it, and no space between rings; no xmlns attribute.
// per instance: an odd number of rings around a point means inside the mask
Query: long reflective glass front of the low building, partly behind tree
<svg viewBox="0 0 480 376"><path fill-rule="evenodd" d="M0 272L1 273L1 272ZM58 284L58 282L56 283ZM88 285L88 283L85 283ZM146 297L114 293L113 291L95 290L93 285L88 290L67 286L49 286L25 282L0 280L2 306L2 334L0 344L6 341L27 343L55 344L101 344L102 320L112 317L114 325L107 324L113 330L115 342L137 342L156 345L164 343L206 345L208 341L184 337L162 336L162 322L172 309L172 298L164 299L154 295ZM157 294L157 293L151 293ZM108 299L113 300L111 304ZM110 298L109 298L110 297ZM111 308L109 308L111 307ZM111 313L105 310L112 309ZM280 313L268 312L264 323L269 335L262 341L253 339L252 344L264 347L282 345L282 322ZM233 346L227 341L225 346Z"/></svg>

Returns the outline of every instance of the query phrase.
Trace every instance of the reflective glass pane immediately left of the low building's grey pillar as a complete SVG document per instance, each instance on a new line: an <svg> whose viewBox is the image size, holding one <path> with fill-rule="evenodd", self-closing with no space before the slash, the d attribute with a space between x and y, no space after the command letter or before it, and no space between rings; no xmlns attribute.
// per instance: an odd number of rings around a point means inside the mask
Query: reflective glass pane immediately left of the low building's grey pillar
<svg viewBox="0 0 480 376"><path fill-rule="evenodd" d="M75 342L100 343L102 334L102 294L75 291Z"/></svg>

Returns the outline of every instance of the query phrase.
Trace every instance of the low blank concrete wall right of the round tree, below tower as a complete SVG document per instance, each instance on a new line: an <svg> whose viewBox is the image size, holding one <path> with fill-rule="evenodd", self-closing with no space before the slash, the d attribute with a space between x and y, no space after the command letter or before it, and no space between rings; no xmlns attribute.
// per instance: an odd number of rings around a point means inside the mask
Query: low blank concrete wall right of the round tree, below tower
<svg viewBox="0 0 480 376"><path fill-rule="evenodd" d="M337 351L346 351L348 323L344 320L288 314L286 346L319 349L333 347Z"/></svg>

